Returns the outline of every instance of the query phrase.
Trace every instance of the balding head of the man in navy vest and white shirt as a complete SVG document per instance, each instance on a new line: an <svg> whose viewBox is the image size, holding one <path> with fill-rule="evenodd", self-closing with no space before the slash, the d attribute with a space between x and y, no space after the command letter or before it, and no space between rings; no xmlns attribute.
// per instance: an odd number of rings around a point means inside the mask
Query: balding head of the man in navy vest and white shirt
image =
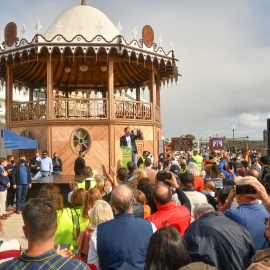
<svg viewBox="0 0 270 270"><path fill-rule="evenodd" d="M117 214L129 213L132 210L134 194L128 185L119 185L112 191L111 202Z"/></svg>

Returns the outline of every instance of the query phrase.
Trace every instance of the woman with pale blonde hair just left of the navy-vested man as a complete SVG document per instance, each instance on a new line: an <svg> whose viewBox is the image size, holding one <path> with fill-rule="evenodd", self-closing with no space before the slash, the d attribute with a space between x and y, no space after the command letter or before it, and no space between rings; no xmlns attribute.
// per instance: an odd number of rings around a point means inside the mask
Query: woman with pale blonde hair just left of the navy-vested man
<svg viewBox="0 0 270 270"><path fill-rule="evenodd" d="M80 260L87 262L88 251L90 247L91 233L96 229L96 227L106 221L113 219L113 212L111 206L103 201L97 200L94 207L89 215L89 224L85 230L80 232L78 237L78 247L80 247Z"/></svg>

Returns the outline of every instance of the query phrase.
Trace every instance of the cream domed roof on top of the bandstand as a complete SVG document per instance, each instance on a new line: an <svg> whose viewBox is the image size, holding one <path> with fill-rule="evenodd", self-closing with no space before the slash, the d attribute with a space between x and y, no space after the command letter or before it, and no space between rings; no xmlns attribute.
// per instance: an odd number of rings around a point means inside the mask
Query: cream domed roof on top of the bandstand
<svg viewBox="0 0 270 270"><path fill-rule="evenodd" d="M87 40L92 40L96 35L102 35L107 41L111 41L119 35L119 32L103 12L81 5L62 13L43 36L51 40L59 34L67 40L73 39L76 35L82 35Z"/></svg>

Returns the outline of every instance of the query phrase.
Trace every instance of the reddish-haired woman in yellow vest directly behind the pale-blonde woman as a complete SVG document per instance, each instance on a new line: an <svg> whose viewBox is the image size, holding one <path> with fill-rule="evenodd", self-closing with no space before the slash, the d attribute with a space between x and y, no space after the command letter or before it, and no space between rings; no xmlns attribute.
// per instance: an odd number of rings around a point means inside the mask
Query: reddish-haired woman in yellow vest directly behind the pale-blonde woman
<svg viewBox="0 0 270 270"><path fill-rule="evenodd" d="M89 214L88 212L94 207L94 204L97 200L101 200L100 191L97 188L90 188L85 195L85 199L82 206L82 212L77 217L76 222L76 236L77 239L82 230L84 230L89 223Z"/></svg>

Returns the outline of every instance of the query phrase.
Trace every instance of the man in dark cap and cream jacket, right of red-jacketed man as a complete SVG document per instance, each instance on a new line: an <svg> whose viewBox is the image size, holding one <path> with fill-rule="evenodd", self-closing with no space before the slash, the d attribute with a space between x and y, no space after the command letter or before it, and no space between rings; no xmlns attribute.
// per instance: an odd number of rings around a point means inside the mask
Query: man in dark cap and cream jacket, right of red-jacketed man
<svg viewBox="0 0 270 270"><path fill-rule="evenodd" d="M190 204L191 204L191 213L193 213L193 209L196 204L207 203L206 196L193 189L194 186L194 177L191 173L182 173L179 175L180 178L180 187L183 189L185 194L187 195ZM194 216L191 214L190 223L194 221Z"/></svg>

